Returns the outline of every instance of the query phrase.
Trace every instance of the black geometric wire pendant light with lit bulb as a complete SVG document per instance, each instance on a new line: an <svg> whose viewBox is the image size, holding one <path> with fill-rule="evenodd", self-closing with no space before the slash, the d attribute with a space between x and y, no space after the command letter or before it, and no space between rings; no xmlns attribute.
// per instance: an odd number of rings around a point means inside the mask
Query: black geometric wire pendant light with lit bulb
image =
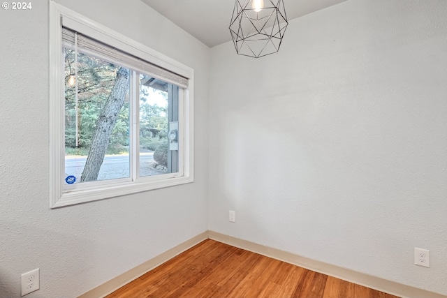
<svg viewBox="0 0 447 298"><path fill-rule="evenodd" d="M237 54L259 58L278 52L287 25L283 0L236 0L230 33Z"/></svg>

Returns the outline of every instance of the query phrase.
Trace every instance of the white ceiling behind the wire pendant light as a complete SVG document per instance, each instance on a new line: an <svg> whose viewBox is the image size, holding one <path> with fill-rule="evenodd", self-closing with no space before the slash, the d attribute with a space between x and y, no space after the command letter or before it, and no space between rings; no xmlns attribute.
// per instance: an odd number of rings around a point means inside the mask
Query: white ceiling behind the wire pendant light
<svg viewBox="0 0 447 298"><path fill-rule="evenodd" d="M209 47L231 40L235 0L141 0ZM284 0L288 20L346 0Z"/></svg>

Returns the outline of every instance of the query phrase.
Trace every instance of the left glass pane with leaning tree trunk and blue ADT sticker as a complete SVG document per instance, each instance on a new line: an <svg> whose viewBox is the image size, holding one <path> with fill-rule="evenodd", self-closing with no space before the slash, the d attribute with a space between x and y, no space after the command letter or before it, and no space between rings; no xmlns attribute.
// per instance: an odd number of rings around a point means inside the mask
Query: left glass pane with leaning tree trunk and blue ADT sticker
<svg viewBox="0 0 447 298"><path fill-rule="evenodd" d="M65 184L130 177L130 70L64 54Z"/></svg>

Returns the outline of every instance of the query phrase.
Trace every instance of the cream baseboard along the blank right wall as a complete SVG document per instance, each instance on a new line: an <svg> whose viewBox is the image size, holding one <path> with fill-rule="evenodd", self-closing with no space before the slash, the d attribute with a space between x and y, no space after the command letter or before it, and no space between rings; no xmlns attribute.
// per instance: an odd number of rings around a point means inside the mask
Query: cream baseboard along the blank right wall
<svg viewBox="0 0 447 298"><path fill-rule="evenodd" d="M245 249L246 251L252 251L254 253L259 253L260 255L265 255L269 258L274 258L276 260L281 260L288 262L305 269L316 271L328 276L333 276L335 278L340 278L344 281L349 281L351 283L356 283L358 285L363 285L367 288L372 288L374 290L379 290L381 292L386 292L391 295L395 295L403 298L446 298L445 295L437 294L434 292L429 292L427 290L422 290L419 288L411 287L410 285L403 285L402 283L396 283L394 281L388 281L383 278L376 276L370 276L368 274L353 271L351 269L346 269L343 267L338 267L335 265L330 265L324 262L312 260L309 258L302 257L300 255L295 255L293 253L288 253L286 251L280 251L276 248L271 248L268 246L263 246L261 244L256 244L247 240L238 239L235 237L228 236L226 234L220 234L214 231L208 231L208 238L229 244L230 246L235 246L238 248Z"/></svg>

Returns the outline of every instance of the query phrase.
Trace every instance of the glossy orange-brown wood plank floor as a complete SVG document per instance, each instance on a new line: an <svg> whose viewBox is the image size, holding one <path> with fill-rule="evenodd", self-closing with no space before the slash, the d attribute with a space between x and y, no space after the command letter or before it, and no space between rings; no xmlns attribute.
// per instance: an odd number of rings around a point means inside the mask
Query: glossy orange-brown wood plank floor
<svg viewBox="0 0 447 298"><path fill-rule="evenodd" d="M106 298L396 298L207 239Z"/></svg>

